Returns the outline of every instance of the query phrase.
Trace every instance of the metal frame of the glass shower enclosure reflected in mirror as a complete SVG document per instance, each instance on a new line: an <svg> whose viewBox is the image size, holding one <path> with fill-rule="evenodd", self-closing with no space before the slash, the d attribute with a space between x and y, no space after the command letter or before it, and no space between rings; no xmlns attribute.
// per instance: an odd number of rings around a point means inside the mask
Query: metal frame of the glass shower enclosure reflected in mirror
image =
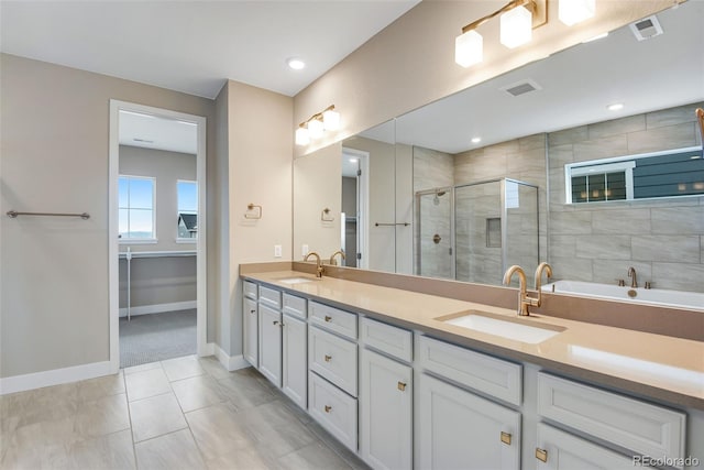
<svg viewBox="0 0 704 470"><path fill-rule="evenodd" d="M429 196L438 193L450 193L450 256L451 256L451 278L457 280L457 190L465 187L485 185L491 183L499 183L499 204L501 204L501 230L502 230L502 272L506 272L508 269L508 207L506 205L506 182L514 183L520 186L530 187L536 189L536 254L537 260L540 260L540 188L531 183L521 182L514 178L492 178L483 179L480 182L462 183L454 186L436 187L432 189L418 190L414 198L414 215L416 222L416 239L414 241L414 271L415 274L419 274L421 271L422 260L420 258L420 243L421 243L421 219L420 219L420 198L422 196Z"/></svg>

